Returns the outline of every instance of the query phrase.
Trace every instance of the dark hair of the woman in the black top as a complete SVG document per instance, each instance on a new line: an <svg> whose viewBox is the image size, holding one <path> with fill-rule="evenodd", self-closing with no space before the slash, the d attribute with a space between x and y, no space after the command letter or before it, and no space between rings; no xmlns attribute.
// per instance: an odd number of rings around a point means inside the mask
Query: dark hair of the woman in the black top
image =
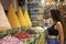
<svg viewBox="0 0 66 44"><path fill-rule="evenodd" d="M52 9L51 15L52 15L53 21L56 21L56 22L61 21L62 22L62 15L61 15L61 11L58 9Z"/></svg>

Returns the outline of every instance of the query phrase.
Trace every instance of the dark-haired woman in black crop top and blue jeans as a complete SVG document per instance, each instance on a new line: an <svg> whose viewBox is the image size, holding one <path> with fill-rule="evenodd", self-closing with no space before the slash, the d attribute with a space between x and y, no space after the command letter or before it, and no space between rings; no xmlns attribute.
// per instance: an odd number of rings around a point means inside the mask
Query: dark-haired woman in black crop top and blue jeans
<svg viewBox="0 0 66 44"><path fill-rule="evenodd" d="M64 32L62 25L61 11L57 9L51 10L51 15L53 19L53 24L47 29L47 44L64 44ZM59 36L59 41L57 40Z"/></svg>

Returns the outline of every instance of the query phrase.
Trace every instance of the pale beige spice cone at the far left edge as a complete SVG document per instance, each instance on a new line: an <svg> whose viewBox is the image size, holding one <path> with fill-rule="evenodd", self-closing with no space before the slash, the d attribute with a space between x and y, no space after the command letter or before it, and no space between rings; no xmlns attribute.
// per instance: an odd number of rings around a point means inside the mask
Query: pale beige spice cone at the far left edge
<svg viewBox="0 0 66 44"><path fill-rule="evenodd" d="M8 18L6 16L3 7L0 2L0 31L9 30L9 29L11 29L11 25L8 21Z"/></svg>

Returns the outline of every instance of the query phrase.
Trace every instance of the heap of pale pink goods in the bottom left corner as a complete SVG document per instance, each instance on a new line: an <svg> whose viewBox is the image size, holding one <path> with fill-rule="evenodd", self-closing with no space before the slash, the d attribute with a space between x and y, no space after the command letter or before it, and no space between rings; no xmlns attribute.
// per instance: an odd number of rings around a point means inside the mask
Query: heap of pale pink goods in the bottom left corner
<svg viewBox="0 0 66 44"><path fill-rule="evenodd" d="M14 36L7 36L2 40L0 40L0 44L23 44L20 40L18 40Z"/></svg>

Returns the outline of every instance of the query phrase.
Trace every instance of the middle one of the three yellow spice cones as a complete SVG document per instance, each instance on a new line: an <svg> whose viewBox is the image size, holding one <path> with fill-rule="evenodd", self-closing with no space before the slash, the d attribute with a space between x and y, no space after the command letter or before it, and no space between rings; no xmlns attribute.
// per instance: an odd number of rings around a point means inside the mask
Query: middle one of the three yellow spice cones
<svg viewBox="0 0 66 44"><path fill-rule="evenodd" d="M26 24L26 22L25 22L25 19L24 19L24 16L23 16L21 7L19 7L19 9L18 9L18 19L19 19L20 24L21 24L22 28L23 28L23 26L28 26L28 24Z"/></svg>

